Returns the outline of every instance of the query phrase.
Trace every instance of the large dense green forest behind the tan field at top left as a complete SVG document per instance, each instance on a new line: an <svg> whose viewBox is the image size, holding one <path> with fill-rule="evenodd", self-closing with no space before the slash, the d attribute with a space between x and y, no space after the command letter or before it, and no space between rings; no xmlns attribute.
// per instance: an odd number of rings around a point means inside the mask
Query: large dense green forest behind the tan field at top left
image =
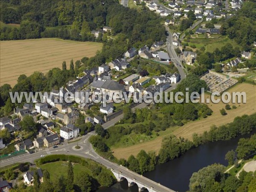
<svg viewBox="0 0 256 192"><path fill-rule="evenodd" d="M157 15L146 8L142 12L125 8L116 0L3 0L0 20L20 23L19 29L1 29L1 40L58 37L94 41L91 30L103 26L112 27L112 34L125 34L129 44L152 44L166 38Z"/></svg>

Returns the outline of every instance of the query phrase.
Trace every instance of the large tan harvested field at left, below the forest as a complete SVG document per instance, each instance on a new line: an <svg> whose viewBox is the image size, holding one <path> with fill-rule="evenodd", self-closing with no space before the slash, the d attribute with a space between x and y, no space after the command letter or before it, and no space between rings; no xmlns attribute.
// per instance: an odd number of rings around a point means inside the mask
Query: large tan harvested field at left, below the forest
<svg viewBox="0 0 256 192"><path fill-rule="evenodd" d="M77 42L58 38L42 38L0 42L0 85L15 85L21 74L35 71L48 72L62 67L62 61L74 62L83 57L92 57L102 49L101 43Z"/></svg>

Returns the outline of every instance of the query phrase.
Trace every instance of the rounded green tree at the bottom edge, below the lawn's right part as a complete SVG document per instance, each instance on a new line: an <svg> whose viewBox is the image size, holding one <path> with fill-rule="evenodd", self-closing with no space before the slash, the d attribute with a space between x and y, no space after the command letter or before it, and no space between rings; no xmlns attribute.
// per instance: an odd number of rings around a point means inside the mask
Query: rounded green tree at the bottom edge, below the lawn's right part
<svg viewBox="0 0 256 192"><path fill-rule="evenodd" d="M79 186L81 192L92 191L93 178L87 172L79 172L76 175L76 184Z"/></svg>

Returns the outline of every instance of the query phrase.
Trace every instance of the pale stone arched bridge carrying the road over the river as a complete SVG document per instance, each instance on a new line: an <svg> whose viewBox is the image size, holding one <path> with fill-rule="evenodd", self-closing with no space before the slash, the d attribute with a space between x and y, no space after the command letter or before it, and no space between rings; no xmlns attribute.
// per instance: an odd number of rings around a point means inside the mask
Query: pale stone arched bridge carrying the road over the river
<svg viewBox="0 0 256 192"><path fill-rule="evenodd" d="M118 182L126 179L128 181L129 187L136 184L139 188L139 192L145 189L147 189L148 192L175 192L172 189L161 185L160 183L156 183L146 177L143 177L143 175L131 172L125 167L122 167L122 169L126 169L126 172L124 173L122 171L117 171L114 169L111 169L111 172L116 177L116 180ZM131 174L129 172L131 172Z"/></svg>

